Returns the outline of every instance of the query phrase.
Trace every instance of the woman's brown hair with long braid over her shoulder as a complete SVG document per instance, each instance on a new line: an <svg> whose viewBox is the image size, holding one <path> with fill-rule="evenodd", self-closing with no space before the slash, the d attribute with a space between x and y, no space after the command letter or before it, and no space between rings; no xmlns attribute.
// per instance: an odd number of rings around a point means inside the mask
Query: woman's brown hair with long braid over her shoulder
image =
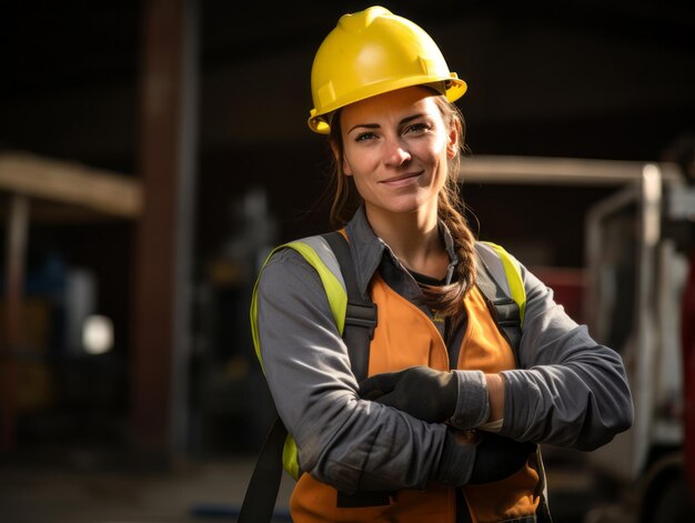
<svg viewBox="0 0 695 523"><path fill-rule="evenodd" d="M421 285L424 303L443 315L455 315L463 310L463 298L475 283L476 257L475 237L465 219L465 205L459 185L459 167L461 155L465 152L465 121L460 109L449 102L444 95L435 97L446 129L457 129L459 151L449 161L446 182L439 193L437 213L446 224L454 240L459 264L454 283L444 286ZM334 227L343 227L356 210L361 199L354 188L352 177L343 173L343 139L340 131L340 110L333 114L329 142L334 151L332 180L335 184L331 205L331 222Z"/></svg>

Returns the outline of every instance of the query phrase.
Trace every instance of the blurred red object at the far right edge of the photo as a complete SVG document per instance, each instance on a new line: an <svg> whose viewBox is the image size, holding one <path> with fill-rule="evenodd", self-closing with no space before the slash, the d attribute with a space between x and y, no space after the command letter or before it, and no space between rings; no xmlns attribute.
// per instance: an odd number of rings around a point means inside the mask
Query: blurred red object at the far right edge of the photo
<svg viewBox="0 0 695 523"><path fill-rule="evenodd" d="M691 253L689 272L683 292L681 320L685 394L685 466L691 493L695 499L695 250Z"/></svg>

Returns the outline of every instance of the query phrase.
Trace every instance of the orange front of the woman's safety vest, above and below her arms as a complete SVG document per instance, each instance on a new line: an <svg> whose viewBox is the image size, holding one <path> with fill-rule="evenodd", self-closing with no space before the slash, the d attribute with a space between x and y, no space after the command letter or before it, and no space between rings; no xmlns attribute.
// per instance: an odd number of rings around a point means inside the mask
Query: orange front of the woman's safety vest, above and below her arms
<svg viewBox="0 0 695 523"><path fill-rule="evenodd" d="M391 289L375 274L370 293L380 321L370 348L369 375L414 365L449 370L444 340L432 320ZM500 333L477 288L465 298L469 316L456 368L486 373L515 368L514 354ZM500 522L535 514L540 503L541 474L533 462L504 480L463 487L474 523ZM396 492L389 505L339 507L338 491L310 473L299 477L290 499L294 523L401 522L454 523L456 495L453 487L433 484L425 490Z"/></svg>

